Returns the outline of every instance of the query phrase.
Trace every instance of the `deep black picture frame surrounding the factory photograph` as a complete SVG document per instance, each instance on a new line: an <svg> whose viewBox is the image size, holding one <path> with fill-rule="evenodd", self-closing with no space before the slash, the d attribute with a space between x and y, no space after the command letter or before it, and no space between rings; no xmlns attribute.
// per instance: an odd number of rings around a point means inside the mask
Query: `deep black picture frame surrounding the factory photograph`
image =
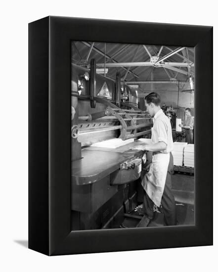
<svg viewBox="0 0 218 272"><path fill-rule="evenodd" d="M195 226L71 231L71 41L195 47ZM29 24L29 248L64 255L213 244L213 28L48 16Z"/></svg>

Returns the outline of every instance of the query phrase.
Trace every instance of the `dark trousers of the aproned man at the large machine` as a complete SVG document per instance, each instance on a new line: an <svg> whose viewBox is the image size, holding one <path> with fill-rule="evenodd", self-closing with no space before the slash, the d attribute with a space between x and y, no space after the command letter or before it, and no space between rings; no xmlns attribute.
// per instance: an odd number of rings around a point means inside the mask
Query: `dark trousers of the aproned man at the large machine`
<svg viewBox="0 0 218 272"><path fill-rule="evenodd" d="M176 212L175 212L175 200L174 195L172 193L172 181L171 175L174 169L174 159L173 155L170 153L170 162L167 171L167 178L164 187L164 192L161 200L162 211L164 213L164 220L167 226L176 225ZM144 191L143 203L144 203L144 211L148 218L152 219L154 216L154 202L150 199L148 194Z"/></svg>

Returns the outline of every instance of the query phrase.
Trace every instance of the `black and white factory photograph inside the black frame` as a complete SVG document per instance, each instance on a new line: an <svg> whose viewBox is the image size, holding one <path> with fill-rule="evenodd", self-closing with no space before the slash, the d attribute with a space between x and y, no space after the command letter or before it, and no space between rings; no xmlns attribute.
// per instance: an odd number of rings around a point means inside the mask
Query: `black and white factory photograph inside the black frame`
<svg viewBox="0 0 218 272"><path fill-rule="evenodd" d="M71 229L195 225L195 49L71 43Z"/></svg>

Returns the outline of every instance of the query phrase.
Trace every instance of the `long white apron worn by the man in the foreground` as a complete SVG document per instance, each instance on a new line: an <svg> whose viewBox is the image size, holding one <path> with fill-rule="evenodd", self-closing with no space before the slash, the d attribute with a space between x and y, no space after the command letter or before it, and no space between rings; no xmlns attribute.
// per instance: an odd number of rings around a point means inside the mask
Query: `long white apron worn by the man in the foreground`
<svg viewBox="0 0 218 272"><path fill-rule="evenodd" d="M154 202L160 207L170 161L170 153L158 153L153 155L150 169L141 181L141 184Z"/></svg>

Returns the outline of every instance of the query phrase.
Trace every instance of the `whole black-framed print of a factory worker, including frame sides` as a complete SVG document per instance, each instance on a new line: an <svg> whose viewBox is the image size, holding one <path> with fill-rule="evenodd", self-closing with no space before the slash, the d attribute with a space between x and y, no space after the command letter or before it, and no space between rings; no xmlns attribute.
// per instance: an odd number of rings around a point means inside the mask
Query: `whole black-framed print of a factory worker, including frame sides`
<svg viewBox="0 0 218 272"><path fill-rule="evenodd" d="M213 28L29 24L29 248L213 244Z"/></svg>

